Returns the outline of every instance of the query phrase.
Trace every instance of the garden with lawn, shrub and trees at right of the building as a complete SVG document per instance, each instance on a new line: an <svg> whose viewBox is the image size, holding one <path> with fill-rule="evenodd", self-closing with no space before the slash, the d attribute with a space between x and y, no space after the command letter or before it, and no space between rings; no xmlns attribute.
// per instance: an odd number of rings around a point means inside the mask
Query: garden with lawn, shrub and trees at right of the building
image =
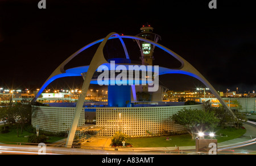
<svg viewBox="0 0 256 166"><path fill-rule="evenodd" d="M119 146L125 138L125 142L131 144L133 147L180 147L180 146L195 146L196 137L202 138L198 132L213 131L214 136L204 136L206 139L217 139L218 143L227 140L236 139L245 134L246 129L242 127L242 123L247 121L245 114L234 113L230 114L228 110L223 107L212 107L210 103L205 103L203 110L181 110L170 117L172 121L184 127L184 133L176 134L170 133L166 136L148 135L147 138L129 138L124 134L115 135L116 138L112 140L115 145L118 140ZM115 142L114 142L115 141Z"/></svg>

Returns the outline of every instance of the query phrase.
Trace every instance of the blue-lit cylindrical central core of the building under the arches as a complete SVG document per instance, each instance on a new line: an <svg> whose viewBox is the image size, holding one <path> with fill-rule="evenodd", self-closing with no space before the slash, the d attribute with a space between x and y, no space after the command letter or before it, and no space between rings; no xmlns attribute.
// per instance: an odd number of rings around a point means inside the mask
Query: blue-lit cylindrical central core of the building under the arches
<svg viewBox="0 0 256 166"><path fill-rule="evenodd" d="M130 64L130 59L114 58L115 64ZM110 107L130 107L131 106L131 86L130 85L109 85L108 86L108 105Z"/></svg>

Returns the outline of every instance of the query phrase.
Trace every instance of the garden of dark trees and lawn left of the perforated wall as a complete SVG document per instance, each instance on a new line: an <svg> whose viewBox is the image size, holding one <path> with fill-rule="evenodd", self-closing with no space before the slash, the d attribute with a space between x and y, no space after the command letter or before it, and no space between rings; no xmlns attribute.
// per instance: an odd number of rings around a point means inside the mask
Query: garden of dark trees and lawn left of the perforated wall
<svg viewBox="0 0 256 166"><path fill-rule="evenodd" d="M0 143L53 143L64 138L64 133L39 131L31 126L30 103L10 102L0 107Z"/></svg>

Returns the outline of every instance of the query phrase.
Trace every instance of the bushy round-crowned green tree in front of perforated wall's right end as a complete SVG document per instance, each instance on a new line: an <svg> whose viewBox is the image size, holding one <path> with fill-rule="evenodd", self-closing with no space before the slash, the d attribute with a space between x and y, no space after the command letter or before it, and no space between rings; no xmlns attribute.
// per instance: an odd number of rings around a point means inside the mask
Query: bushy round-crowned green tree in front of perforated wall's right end
<svg viewBox="0 0 256 166"><path fill-rule="evenodd" d="M205 128L216 127L219 120L214 116L214 112L185 109L172 115L172 121L181 126L184 126L188 133L191 134L192 139L195 139L195 132L204 130Z"/></svg>

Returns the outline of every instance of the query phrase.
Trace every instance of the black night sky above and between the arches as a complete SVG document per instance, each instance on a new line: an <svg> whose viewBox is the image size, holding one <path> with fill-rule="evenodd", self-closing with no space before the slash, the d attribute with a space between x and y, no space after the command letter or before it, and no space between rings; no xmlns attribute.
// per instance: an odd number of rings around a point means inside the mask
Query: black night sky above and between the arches
<svg viewBox="0 0 256 166"><path fill-rule="evenodd" d="M256 89L256 19L250 1L217 0L217 9L209 9L210 0L46 0L47 9L38 9L38 2L0 0L0 87L40 88L55 68L86 44L110 32L137 35L143 24L150 23L162 37L158 43L191 63L216 90ZM128 40L127 47L131 59L139 60L136 43ZM67 67L88 65L95 48ZM179 65L159 49L154 56L154 65ZM203 86L183 75L160 79L173 90ZM79 87L81 78L56 80L51 86Z"/></svg>

